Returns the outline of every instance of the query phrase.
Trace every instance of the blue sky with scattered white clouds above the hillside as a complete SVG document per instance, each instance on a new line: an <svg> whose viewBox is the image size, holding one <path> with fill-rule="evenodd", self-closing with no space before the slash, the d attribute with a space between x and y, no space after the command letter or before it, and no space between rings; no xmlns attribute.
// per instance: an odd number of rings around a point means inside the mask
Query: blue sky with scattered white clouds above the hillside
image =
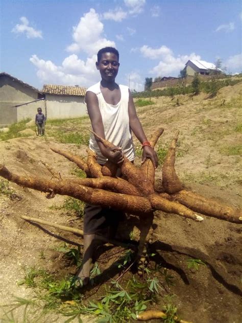
<svg viewBox="0 0 242 323"><path fill-rule="evenodd" d="M240 0L0 0L0 72L38 89L100 81L96 53L119 51L116 82L177 77L189 59L242 71Z"/></svg>

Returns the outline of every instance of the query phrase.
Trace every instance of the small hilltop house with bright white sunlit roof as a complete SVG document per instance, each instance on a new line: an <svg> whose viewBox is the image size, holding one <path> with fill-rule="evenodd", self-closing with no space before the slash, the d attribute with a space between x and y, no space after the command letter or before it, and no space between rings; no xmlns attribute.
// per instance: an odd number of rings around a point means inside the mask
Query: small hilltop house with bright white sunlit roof
<svg viewBox="0 0 242 323"><path fill-rule="evenodd" d="M201 75L210 75L214 71L218 71L216 65L201 60L188 60L184 70L187 76L195 76L196 73ZM221 70L219 70L222 72Z"/></svg>

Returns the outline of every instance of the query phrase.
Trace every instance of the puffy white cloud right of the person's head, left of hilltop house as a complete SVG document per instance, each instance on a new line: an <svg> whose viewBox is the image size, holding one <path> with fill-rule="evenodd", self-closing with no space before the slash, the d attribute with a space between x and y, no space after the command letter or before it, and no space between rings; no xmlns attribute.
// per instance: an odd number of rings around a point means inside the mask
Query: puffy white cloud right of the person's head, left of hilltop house
<svg viewBox="0 0 242 323"><path fill-rule="evenodd" d="M148 57L150 59L160 59L159 64L153 67L150 71L150 73L154 74L155 76L178 75L180 70L184 68L185 63L189 59L201 59L201 57L195 53L191 53L190 55L178 55L175 57L173 51L165 45L158 49L153 49L147 45L143 45L140 48L140 52L144 57Z"/></svg>

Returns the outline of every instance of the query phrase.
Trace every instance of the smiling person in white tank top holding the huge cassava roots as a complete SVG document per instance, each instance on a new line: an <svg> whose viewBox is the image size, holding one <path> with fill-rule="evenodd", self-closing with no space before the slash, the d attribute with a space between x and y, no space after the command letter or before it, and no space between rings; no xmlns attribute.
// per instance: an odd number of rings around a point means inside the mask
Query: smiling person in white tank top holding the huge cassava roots
<svg viewBox="0 0 242 323"><path fill-rule="evenodd" d="M100 71L102 80L87 89L85 96L87 111L93 131L116 146L113 149L105 148L92 135L89 147L98 155L98 163L104 165L109 159L117 165L122 164L124 154L133 162L132 130L142 144L142 162L150 158L156 168L158 158L143 132L131 92L128 86L115 83L119 68L118 51L112 47L101 49L98 52L96 68ZM115 210L102 209L102 207L96 205L86 205L84 214L84 255L82 267L77 274L79 279L77 280L77 285L86 285L88 283L96 242L103 240L103 236L106 236L106 238L111 236L113 229L117 228L121 215L122 213Z"/></svg>

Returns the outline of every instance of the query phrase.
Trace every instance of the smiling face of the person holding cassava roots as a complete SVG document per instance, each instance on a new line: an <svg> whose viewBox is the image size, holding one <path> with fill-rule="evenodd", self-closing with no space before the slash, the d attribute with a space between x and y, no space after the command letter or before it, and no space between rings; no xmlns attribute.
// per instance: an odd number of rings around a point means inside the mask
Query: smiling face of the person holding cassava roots
<svg viewBox="0 0 242 323"><path fill-rule="evenodd" d="M113 53L103 53L100 62L96 62L96 68L100 71L105 81L114 81L118 73L118 58Z"/></svg>

